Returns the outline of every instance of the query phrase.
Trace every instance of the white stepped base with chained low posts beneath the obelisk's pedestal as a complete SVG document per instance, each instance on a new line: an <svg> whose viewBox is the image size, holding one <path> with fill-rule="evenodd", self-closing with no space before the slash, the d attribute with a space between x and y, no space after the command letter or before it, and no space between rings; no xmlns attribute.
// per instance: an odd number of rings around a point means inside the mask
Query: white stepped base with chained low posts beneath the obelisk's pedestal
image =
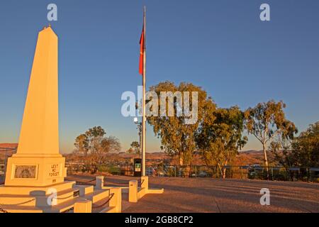
<svg viewBox="0 0 319 227"><path fill-rule="evenodd" d="M86 203L89 202L89 203ZM90 209L82 209L91 204ZM121 212L121 189L61 182L46 187L0 186L0 211L9 213Z"/></svg>

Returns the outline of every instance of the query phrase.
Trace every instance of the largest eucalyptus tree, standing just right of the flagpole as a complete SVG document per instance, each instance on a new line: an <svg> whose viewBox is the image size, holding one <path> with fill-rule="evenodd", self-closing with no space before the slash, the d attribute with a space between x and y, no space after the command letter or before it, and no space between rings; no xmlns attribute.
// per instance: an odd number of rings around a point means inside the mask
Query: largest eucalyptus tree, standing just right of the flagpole
<svg viewBox="0 0 319 227"><path fill-rule="evenodd" d="M191 94L195 92L196 96L189 96L187 92ZM171 157L175 157L179 165L191 165L196 151L194 135L203 115L203 106L208 101L206 92L191 83L182 82L177 86L167 81L150 87L149 94L152 93L159 96L161 101L155 102L154 99L147 101L147 109L150 113L155 113L147 115L147 122L152 126L155 135L161 139L162 150ZM164 96L163 101L163 94L171 95ZM197 100L194 100L194 97ZM194 111L197 111L197 121L187 123L191 118L188 113ZM157 113L161 114L157 115Z"/></svg>

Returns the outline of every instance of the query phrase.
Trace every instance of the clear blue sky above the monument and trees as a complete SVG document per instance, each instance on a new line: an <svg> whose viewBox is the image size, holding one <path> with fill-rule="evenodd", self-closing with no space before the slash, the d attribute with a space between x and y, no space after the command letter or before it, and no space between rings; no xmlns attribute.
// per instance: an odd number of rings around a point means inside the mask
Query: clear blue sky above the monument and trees
<svg viewBox="0 0 319 227"><path fill-rule="evenodd" d="M319 1L0 1L0 143L18 142L38 32L47 4L59 36L60 150L92 126L128 149L138 134L121 115L136 92L142 6L147 6L147 85L171 80L206 89L218 106L275 99L300 130L319 121ZM271 21L259 20L268 3ZM251 139L245 149L259 149ZM147 128L147 150L159 140Z"/></svg>

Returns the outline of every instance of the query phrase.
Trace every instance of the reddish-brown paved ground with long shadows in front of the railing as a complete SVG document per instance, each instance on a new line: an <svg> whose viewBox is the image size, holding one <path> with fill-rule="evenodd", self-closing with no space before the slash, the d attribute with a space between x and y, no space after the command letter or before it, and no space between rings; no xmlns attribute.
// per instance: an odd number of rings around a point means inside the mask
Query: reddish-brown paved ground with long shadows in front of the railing
<svg viewBox="0 0 319 227"><path fill-rule="evenodd" d="M78 179L79 176L69 177ZM80 179L89 179L81 176ZM134 177L105 177L107 186L128 186ZM138 203L128 203L123 194L123 212L319 212L319 184L268 182L242 179L150 177L150 187L164 194L147 194ZM270 190L270 205L259 203L260 189Z"/></svg>

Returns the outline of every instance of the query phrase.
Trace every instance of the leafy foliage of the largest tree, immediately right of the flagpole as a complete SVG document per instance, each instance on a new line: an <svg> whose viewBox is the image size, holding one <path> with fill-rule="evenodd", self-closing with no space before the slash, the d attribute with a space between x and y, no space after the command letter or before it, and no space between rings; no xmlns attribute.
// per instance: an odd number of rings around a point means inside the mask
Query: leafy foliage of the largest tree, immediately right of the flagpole
<svg viewBox="0 0 319 227"><path fill-rule="evenodd" d="M160 92L198 92L198 120L200 121L203 114L201 109L208 101L206 92L191 83L181 83L176 86L172 82L161 82L156 86L150 87L150 91L156 92L160 96ZM184 94L182 93L183 98ZM190 96L191 97L191 96ZM190 101L191 106L192 101ZM163 106L168 112L168 106ZM191 106L192 108L192 106ZM158 105L160 113L161 106ZM194 133L198 128L198 121L194 124L186 124L187 116L177 116L177 99L174 99L174 116L149 116L147 122L153 127L153 131L157 137L161 138L162 150L172 157L179 159L180 165L189 165L196 150Z"/></svg>

